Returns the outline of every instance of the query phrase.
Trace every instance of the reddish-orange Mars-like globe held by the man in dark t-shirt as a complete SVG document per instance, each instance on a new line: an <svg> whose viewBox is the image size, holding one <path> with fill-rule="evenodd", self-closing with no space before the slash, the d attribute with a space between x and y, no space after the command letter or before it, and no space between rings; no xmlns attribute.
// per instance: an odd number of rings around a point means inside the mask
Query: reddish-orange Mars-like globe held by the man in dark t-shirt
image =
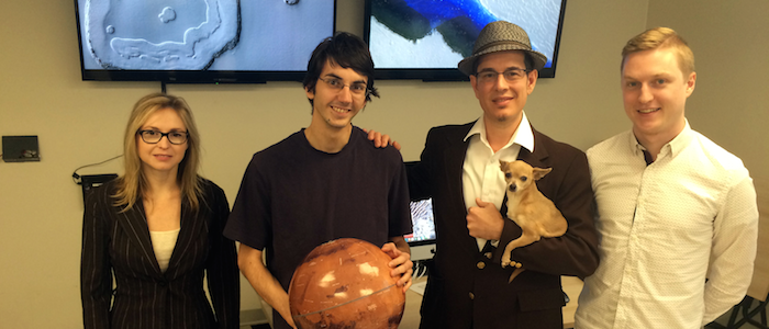
<svg viewBox="0 0 769 329"><path fill-rule="evenodd" d="M391 258L352 238L317 246L297 268L289 286L297 327L398 328L405 295L390 276Z"/></svg>

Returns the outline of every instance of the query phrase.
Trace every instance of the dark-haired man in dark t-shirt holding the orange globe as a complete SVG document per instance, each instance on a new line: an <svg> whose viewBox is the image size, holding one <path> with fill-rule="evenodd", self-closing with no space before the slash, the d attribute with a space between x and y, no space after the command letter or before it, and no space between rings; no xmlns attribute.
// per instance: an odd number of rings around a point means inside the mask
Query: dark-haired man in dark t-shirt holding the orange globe
<svg viewBox="0 0 769 329"><path fill-rule="evenodd" d="M288 286L314 247L337 238L382 246L390 275L411 285L409 186L400 152L376 148L353 126L378 97L374 61L357 36L338 33L312 54L304 78L310 126L254 155L224 235L241 241L238 265L274 308L274 328L291 328ZM263 252L267 249L267 265Z"/></svg>

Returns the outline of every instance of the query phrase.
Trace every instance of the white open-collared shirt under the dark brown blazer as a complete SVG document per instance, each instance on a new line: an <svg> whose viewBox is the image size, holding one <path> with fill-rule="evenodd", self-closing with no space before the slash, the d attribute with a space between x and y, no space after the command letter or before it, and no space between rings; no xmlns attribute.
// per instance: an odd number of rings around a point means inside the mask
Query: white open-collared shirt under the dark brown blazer
<svg viewBox="0 0 769 329"><path fill-rule="evenodd" d="M465 196L465 206L478 206L476 197L484 202L491 202L497 209L502 206L504 200L504 174L500 169L500 160L515 161L519 157L521 147L534 151L534 133L532 126L526 118L526 113L523 113L523 118L515 129L513 137L508 144L494 152L486 138L486 123L483 117L476 121L476 124L470 128L470 132L465 136L468 140L467 154L462 164L462 194ZM478 241L478 250L483 249L486 239L476 238ZM494 241L499 243L499 241Z"/></svg>

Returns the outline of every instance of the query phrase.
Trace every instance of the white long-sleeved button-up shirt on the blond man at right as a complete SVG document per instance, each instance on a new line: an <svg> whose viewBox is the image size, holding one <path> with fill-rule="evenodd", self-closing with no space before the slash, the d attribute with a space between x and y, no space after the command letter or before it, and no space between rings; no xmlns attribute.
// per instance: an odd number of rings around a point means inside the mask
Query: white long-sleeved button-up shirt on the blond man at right
<svg viewBox="0 0 769 329"><path fill-rule="evenodd" d="M632 132L587 154L601 263L575 328L702 328L743 299L758 208L739 158L689 123L648 166Z"/></svg>

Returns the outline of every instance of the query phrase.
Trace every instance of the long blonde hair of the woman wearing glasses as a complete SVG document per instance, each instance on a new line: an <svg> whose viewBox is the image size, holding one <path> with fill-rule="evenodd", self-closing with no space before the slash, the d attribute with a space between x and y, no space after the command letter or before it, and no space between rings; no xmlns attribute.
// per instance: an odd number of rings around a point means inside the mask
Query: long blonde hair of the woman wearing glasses
<svg viewBox="0 0 769 329"><path fill-rule="evenodd" d="M176 111L187 127L187 151L179 163L177 183L181 189L182 201L189 202L192 209L198 209L199 196L202 195L201 178L198 177L200 166L200 135L194 125L192 112L187 102L179 97L165 93L151 93L134 104L129 124L125 127L123 156L125 172L118 179L116 192L113 195L115 206L125 206L122 212L131 209L144 195L147 188L147 178L142 171L142 159L136 149L136 133L142 128L149 116L159 110L171 109Z"/></svg>

